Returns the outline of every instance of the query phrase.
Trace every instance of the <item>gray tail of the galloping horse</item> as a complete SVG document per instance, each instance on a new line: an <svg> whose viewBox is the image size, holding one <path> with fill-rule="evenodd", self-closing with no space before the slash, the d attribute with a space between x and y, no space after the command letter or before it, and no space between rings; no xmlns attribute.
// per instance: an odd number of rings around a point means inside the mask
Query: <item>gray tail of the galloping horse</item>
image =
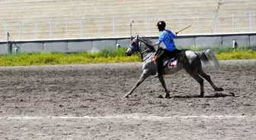
<svg viewBox="0 0 256 140"><path fill-rule="evenodd" d="M204 64L209 64L210 62L213 62L214 67L220 67L219 60L216 58L215 54L213 54L213 50L207 49L205 51L197 51L195 53Z"/></svg>

